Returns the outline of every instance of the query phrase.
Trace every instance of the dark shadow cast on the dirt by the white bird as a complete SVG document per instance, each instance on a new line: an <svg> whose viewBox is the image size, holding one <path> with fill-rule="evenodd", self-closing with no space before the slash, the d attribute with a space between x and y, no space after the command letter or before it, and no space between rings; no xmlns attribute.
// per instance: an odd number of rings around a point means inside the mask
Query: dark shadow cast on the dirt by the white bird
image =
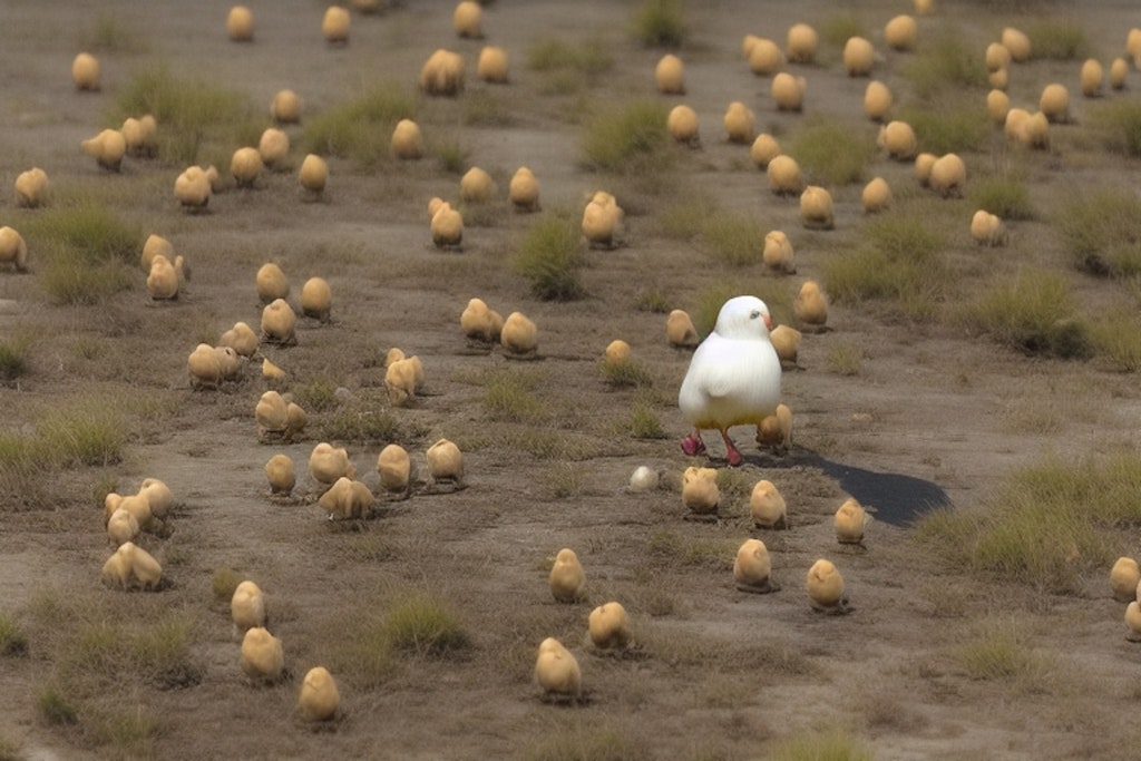
<svg viewBox="0 0 1141 761"><path fill-rule="evenodd" d="M892 526L908 526L931 510L952 507L950 497L933 481L847 465L810 450L796 447L784 458L771 458L766 464L817 468L860 504L874 509L876 520Z"/></svg>

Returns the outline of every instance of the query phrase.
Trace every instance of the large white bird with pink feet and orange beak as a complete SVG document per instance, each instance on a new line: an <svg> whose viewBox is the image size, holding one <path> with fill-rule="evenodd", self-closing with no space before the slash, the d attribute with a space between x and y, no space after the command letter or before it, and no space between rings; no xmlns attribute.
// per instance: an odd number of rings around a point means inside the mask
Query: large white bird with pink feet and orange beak
<svg viewBox="0 0 1141 761"><path fill-rule="evenodd" d="M715 428L729 464L742 463L729 428L755 426L780 403L780 359L769 340L771 327L769 308L756 297L738 296L721 307L678 394L678 406L694 424L694 432L681 440L686 454L703 453L702 430Z"/></svg>

